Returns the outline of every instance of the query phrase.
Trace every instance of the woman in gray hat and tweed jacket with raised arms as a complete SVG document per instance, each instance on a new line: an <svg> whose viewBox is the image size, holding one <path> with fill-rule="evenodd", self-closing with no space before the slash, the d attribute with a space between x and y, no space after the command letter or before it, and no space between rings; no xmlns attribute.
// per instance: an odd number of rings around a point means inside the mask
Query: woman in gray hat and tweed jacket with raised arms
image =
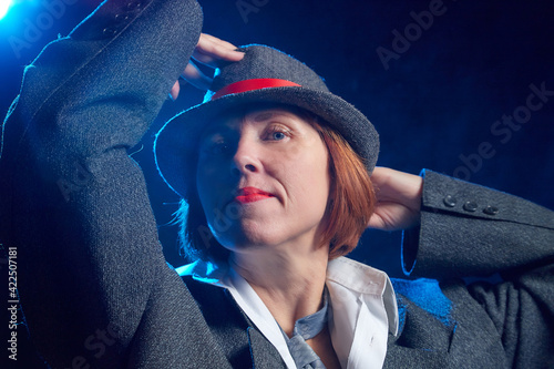
<svg viewBox="0 0 554 369"><path fill-rule="evenodd" d="M178 93L199 20L191 1L107 2L25 72L4 126L1 239L18 249L21 304L50 365L552 363L552 214L432 172L422 187L376 170L373 201L371 124L265 47L243 57L201 38L197 59L237 62L158 134L158 167L189 204L202 256L182 278L168 268L127 148ZM339 257L366 224L414 226L407 270L441 283L394 281L394 297L383 273ZM451 281L491 271L506 279Z"/></svg>

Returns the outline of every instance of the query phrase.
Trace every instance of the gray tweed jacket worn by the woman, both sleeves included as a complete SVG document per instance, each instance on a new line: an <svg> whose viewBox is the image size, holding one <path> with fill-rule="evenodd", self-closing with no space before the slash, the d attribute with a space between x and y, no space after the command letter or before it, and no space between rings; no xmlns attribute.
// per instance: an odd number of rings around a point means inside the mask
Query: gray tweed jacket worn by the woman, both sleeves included
<svg viewBox="0 0 554 369"><path fill-rule="evenodd" d="M201 25L193 0L107 1L25 70L2 130L0 242L18 249L28 329L54 368L283 367L224 289L166 265L127 156ZM554 367L553 214L424 175L403 262L429 279L394 281L401 332L384 366Z"/></svg>

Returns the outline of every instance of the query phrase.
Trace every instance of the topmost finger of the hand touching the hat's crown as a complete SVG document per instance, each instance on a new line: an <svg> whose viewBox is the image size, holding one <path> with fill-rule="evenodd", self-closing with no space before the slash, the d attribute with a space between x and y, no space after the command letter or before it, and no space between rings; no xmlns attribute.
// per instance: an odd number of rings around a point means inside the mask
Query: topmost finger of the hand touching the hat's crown
<svg viewBox="0 0 554 369"><path fill-rule="evenodd" d="M222 60L239 61L244 53L236 51L236 47L213 35L202 33L193 52L193 58L206 65L216 68Z"/></svg>

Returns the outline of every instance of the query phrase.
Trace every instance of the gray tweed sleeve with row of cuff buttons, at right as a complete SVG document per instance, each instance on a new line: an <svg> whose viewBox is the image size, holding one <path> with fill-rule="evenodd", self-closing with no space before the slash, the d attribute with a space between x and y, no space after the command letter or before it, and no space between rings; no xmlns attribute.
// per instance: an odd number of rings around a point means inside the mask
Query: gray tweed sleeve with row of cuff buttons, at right
<svg viewBox="0 0 554 369"><path fill-rule="evenodd" d="M552 263L553 212L431 171L423 175L420 226L403 239L408 274L448 279Z"/></svg>

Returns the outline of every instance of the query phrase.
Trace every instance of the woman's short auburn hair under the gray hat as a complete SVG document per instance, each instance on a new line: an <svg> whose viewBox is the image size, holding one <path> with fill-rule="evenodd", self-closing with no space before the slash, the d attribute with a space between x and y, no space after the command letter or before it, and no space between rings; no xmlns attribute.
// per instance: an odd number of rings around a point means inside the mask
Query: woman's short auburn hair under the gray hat
<svg viewBox="0 0 554 369"><path fill-rule="evenodd" d="M361 234L367 228L376 204L373 185L362 158L318 115L291 105L273 104L269 106L283 107L311 124L327 146L331 184L324 216L327 225L324 227L320 243L321 245L329 244L330 259L350 253L356 248ZM252 109L259 109L259 106L246 107L242 110L242 114L246 115ZM189 192L189 198L187 201L182 198L179 208L175 213L175 223L181 226L182 255L191 260L227 259L230 252L215 239L207 225L196 189L196 181L189 182L194 186Z"/></svg>

